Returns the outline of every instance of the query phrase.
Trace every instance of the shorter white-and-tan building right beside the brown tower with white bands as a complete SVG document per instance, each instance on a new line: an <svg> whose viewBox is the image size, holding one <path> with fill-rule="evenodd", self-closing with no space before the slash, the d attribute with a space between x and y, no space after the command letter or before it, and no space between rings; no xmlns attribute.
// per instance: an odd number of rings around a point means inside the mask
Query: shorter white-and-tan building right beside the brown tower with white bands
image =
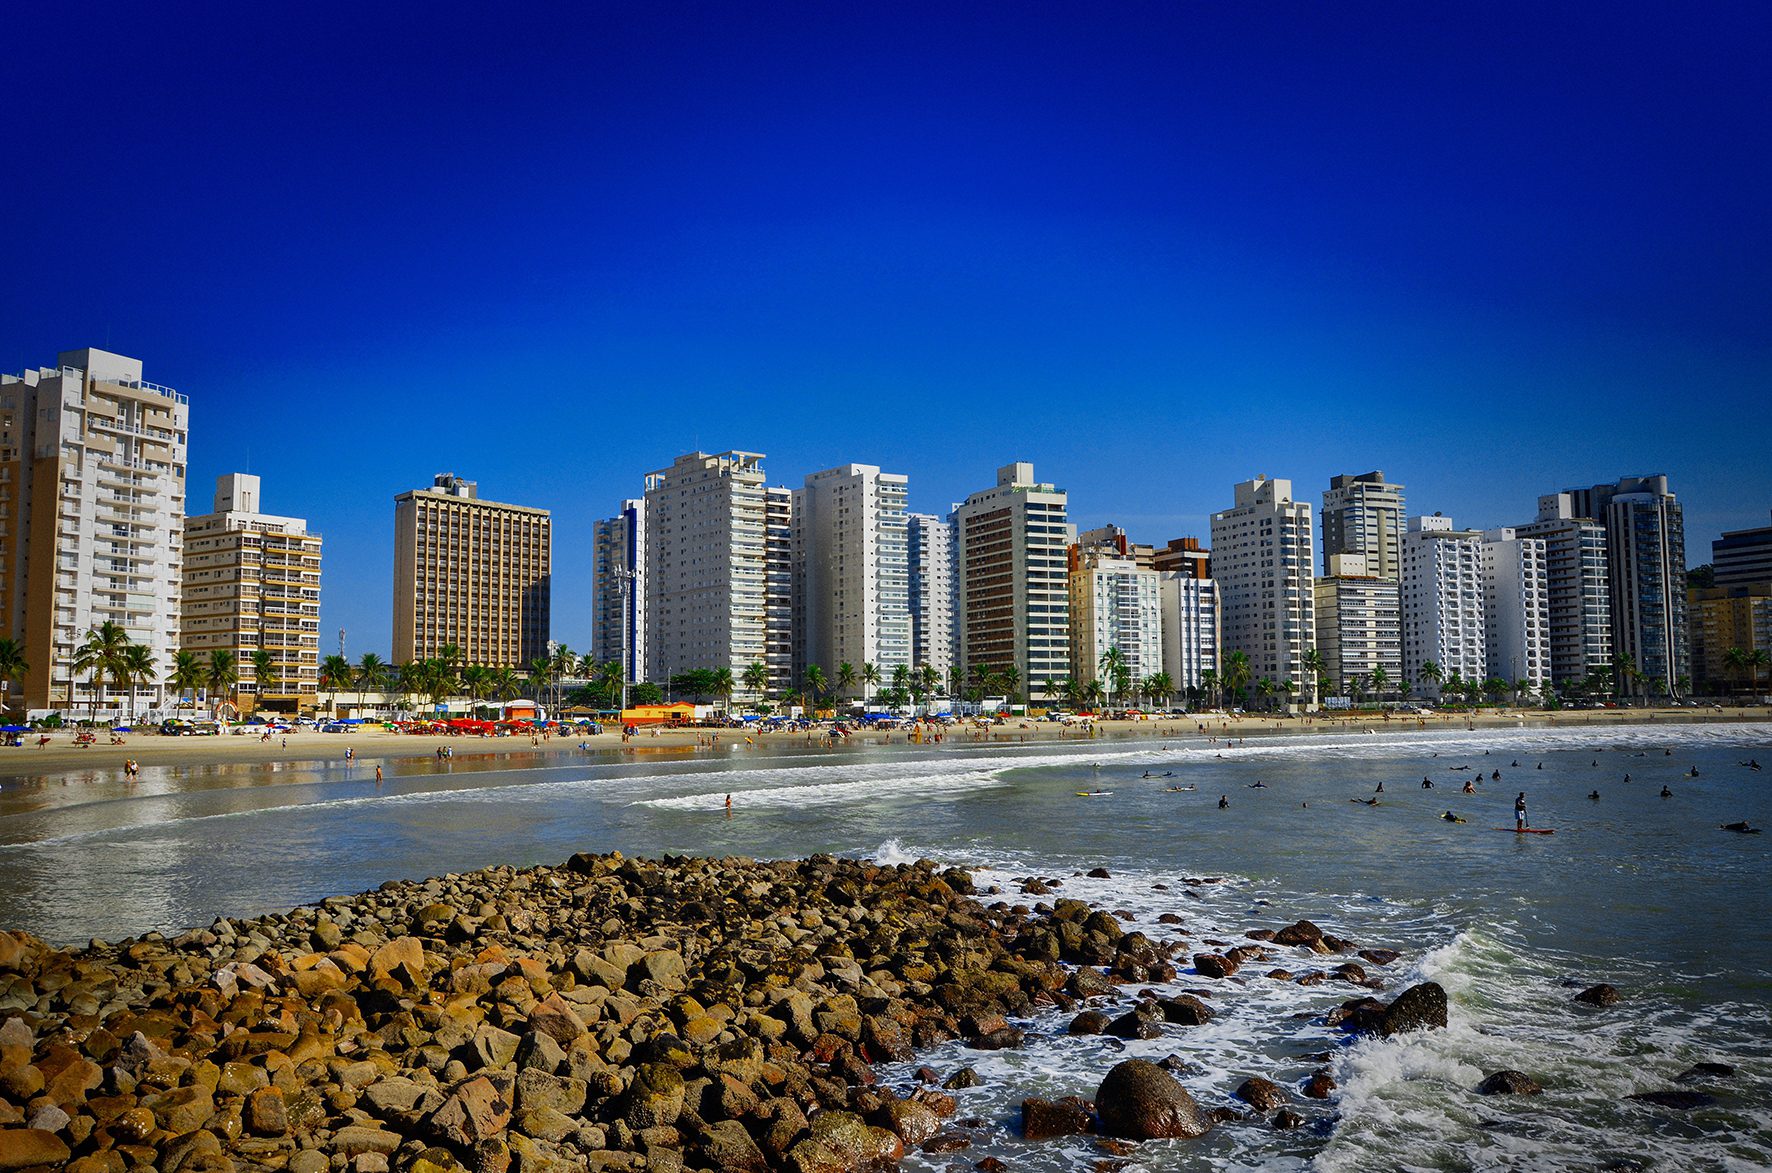
<svg viewBox="0 0 1772 1173"><path fill-rule="evenodd" d="M1084 546L1081 537L1069 551L1070 578L1070 675L1077 684L1104 679L1102 659L1118 650L1131 682L1162 672L1162 597L1157 571L1120 553L1115 542Z"/></svg>

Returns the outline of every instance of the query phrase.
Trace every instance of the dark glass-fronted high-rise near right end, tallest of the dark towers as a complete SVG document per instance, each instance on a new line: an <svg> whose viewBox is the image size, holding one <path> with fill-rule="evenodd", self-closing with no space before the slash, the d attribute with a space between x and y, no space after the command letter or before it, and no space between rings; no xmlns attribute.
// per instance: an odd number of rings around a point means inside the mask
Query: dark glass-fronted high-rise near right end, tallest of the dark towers
<svg viewBox="0 0 1772 1173"><path fill-rule="evenodd" d="M1692 670L1685 618L1685 512L1667 478L1621 477L1570 489L1575 510L1605 524L1613 654L1628 656L1652 693L1673 695Z"/></svg>

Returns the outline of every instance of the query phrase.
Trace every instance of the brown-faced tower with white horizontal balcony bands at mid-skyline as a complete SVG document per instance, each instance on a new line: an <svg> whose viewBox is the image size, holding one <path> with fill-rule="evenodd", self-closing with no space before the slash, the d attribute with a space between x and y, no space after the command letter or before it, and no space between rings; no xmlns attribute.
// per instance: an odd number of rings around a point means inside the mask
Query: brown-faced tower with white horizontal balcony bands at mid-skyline
<svg viewBox="0 0 1772 1173"><path fill-rule="evenodd" d="M1070 675L1069 496L1019 461L955 507L953 524L960 666L1015 668L1028 696L1045 696Z"/></svg>

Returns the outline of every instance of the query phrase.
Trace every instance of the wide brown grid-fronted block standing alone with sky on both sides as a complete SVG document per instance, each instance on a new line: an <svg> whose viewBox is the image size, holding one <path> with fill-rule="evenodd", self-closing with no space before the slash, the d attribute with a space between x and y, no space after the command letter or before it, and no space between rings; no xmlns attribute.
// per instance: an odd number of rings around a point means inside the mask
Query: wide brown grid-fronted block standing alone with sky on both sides
<svg viewBox="0 0 1772 1173"><path fill-rule="evenodd" d="M461 649L461 663L523 668L548 654L553 519L482 501L439 473L393 498L393 663Z"/></svg>

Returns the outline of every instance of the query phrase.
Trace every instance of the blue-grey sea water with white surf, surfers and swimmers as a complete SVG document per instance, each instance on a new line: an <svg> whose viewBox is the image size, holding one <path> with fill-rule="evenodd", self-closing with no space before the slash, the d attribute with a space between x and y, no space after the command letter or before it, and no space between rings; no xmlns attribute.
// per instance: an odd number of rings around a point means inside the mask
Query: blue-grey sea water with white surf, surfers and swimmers
<svg viewBox="0 0 1772 1173"><path fill-rule="evenodd" d="M1767 771L1747 769L1749 758ZM1021 881L1047 877L1159 939L1237 941L1310 918L1361 946L1400 950L1368 971L1387 992L1442 983L1451 1026L1350 1042L1322 1015L1357 987L1274 982L1258 962L1228 982L1182 973L1173 989L1212 990L1212 1024L1120 1042L1070 1038L1069 1015L1053 1014L1022 1022L1021 1051L950 1044L918 1056L985 1077L959 1095L962 1115L987 1127L966 1154L907 1168L998 1155L1056 1171L1102 1159L1088 1138L1022 1141L1017 1106L1088 1097L1134 1054L1178 1056L1205 1106L1230 1104L1247 1076L1269 1077L1294 1088L1308 1118L1292 1132L1247 1120L1145 1145L1136 1161L1152 1169L1772 1166L1772 833L1721 829L1772 826L1768 725L1379 730L1237 746L641 744L620 757L516 760L464 750L448 764L424 755L386 767L381 787L363 760L147 769L133 785L103 771L5 780L0 925L58 943L113 939L574 851L934 858L975 868L980 888L998 889L987 900L1033 904ZM1465 780L1476 794L1460 792ZM1354 801L1380 783L1379 806ZM1533 826L1556 835L1501 833L1520 790ZM1448 810L1465 822L1444 822ZM1097 866L1109 879L1083 875ZM1164 913L1182 925L1159 923ZM1311 967L1281 953L1274 964ZM1623 1001L1570 1001L1595 982ZM1122 1003L1131 999L1127 990ZM1627 1099L1673 1088L1701 1061L1735 1068L1690 1084L1714 1106L1682 1113ZM1334 1097L1297 1097L1318 1068L1333 1074ZM1473 1095L1497 1068L1531 1074L1545 1093ZM909 1067L886 1076L909 1081Z"/></svg>

